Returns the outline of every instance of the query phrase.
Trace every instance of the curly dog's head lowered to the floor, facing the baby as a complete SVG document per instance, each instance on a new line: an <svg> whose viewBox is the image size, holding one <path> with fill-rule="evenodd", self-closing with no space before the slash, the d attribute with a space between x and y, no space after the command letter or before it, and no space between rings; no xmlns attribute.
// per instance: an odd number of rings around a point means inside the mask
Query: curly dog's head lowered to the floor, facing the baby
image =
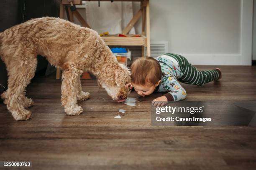
<svg viewBox="0 0 256 170"><path fill-rule="evenodd" d="M122 64L114 65L110 72L102 77L104 80L99 81L100 86L105 88L108 95L112 97L115 101L123 101L130 94L131 90L129 87L125 87L129 82L131 82L131 72L130 70Z"/></svg>

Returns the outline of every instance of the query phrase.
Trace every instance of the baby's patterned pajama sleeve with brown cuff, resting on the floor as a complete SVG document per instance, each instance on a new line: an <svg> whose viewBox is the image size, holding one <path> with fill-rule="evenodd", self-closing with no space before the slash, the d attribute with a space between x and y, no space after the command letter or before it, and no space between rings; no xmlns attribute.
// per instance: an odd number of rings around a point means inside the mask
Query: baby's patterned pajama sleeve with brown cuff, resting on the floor
<svg viewBox="0 0 256 170"><path fill-rule="evenodd" d="M177 102L180 100L184 100L186 98L187 96L186 90L179 84L176 77L168 76L163 80L164 80L163 82L164 89L170 91L164 95L168 101Z"/></svg>

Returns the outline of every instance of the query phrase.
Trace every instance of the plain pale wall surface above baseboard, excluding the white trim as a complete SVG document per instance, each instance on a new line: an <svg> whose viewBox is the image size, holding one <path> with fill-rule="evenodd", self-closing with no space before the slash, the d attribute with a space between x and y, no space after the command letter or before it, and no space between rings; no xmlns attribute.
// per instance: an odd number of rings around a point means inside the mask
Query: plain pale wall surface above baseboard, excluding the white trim
<svg viewBox="0 0 256 170"><path fill-rule="evenodd" d="M151 0L151 40L185 54L240 52L240 0Z"/></svg>

